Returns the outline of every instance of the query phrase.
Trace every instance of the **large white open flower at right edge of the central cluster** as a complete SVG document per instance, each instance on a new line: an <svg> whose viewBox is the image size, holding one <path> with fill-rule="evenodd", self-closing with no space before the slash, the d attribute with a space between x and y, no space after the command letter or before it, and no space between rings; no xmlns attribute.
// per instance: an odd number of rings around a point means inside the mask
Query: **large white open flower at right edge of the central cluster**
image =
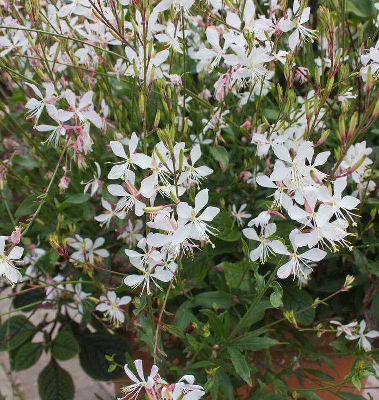
<svg viewBox="0 0 379 400"><path fill-rule="evenodd" d="M205 207L209 200L209 190L204 189L197 193L195 197L195 207L191 207L186 202L180 202L176 207L177 215L185 222L186 225L180 227L180 233L183 236L195 238L197 240L204 240L211 243L208 233L214 235L215 228L212 228L207 222L211 222L220 212L216 207L207 207L200 215L199 212ZM180 235L178 235L181 241ZM173 242L173 244L175 244Z"/></svg>

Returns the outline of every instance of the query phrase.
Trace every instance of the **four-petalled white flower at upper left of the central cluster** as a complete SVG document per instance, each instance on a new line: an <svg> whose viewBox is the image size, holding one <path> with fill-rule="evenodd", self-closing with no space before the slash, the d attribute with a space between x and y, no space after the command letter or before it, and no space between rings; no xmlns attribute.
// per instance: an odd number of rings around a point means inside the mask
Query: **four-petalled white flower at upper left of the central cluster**
<svg viewBox="0 0 379 400"><path fill-rule="evenodd" d="M117 157L123 158L125 161L115 162L119 165L114 165L108 174L108 179L118 179L123 176L127 178L130 171L130 166L134 164L142 169L146 169L151 165L151 158L146 154L136 153L138 146L138 137L135 132L132 133L129 140L129 155L126 155L123 145L119 141L112 140L110 143L112 151Z"/></svg>

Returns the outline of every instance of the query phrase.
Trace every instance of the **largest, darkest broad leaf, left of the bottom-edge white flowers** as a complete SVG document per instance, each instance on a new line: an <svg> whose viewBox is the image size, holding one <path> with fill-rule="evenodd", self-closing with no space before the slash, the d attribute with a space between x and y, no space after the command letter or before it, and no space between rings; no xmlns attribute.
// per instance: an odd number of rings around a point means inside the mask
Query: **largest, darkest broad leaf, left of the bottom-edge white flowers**
<svg viewBox="0 0 379 400"><path fill-rule="evenodd" d="M109 362L105 355L114 354L114 362L123 364L125 352L129 352L126 340L117 334L82 333L76 336L80 346L80 364L84 371L97 380L114 380L124 376L121 368L108 373Z"/></svg>

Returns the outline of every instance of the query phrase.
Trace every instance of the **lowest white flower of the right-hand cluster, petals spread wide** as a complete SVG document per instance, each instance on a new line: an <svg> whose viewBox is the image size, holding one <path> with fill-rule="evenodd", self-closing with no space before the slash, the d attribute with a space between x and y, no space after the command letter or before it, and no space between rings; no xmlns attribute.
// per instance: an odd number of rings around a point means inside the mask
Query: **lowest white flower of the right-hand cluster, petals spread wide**
<svg viewBox="0 0 379 400"><path fill-rule="evenodd" d="M312 248L302 254L297 254L295 238L299 233L300 231L298 229L293 229L289 234L289 240L292 244L293 252L288 251L287 247L279 240L274 240L272 242L272 248L275 253L289 255L289 261L282 265L277 271L277 276L280 279L285 279L289 275L293 275L294 278L299 278L300 276L305 277L306 275L303 271L303 265L309 267L310 262L318 262L326 257L326 252L318 248Z"/></svg>

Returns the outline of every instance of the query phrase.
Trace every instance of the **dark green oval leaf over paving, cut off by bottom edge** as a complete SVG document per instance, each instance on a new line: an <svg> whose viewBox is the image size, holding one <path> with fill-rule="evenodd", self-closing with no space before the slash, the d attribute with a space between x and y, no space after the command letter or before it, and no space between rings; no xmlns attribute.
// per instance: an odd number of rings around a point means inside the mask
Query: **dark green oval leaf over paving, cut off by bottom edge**
<svg viewBox="0 0 379 400"><path fill-rule="evenodd" d="M73 400L75 386L71 375L52 359L38 376L41 400Z"/></svg>

